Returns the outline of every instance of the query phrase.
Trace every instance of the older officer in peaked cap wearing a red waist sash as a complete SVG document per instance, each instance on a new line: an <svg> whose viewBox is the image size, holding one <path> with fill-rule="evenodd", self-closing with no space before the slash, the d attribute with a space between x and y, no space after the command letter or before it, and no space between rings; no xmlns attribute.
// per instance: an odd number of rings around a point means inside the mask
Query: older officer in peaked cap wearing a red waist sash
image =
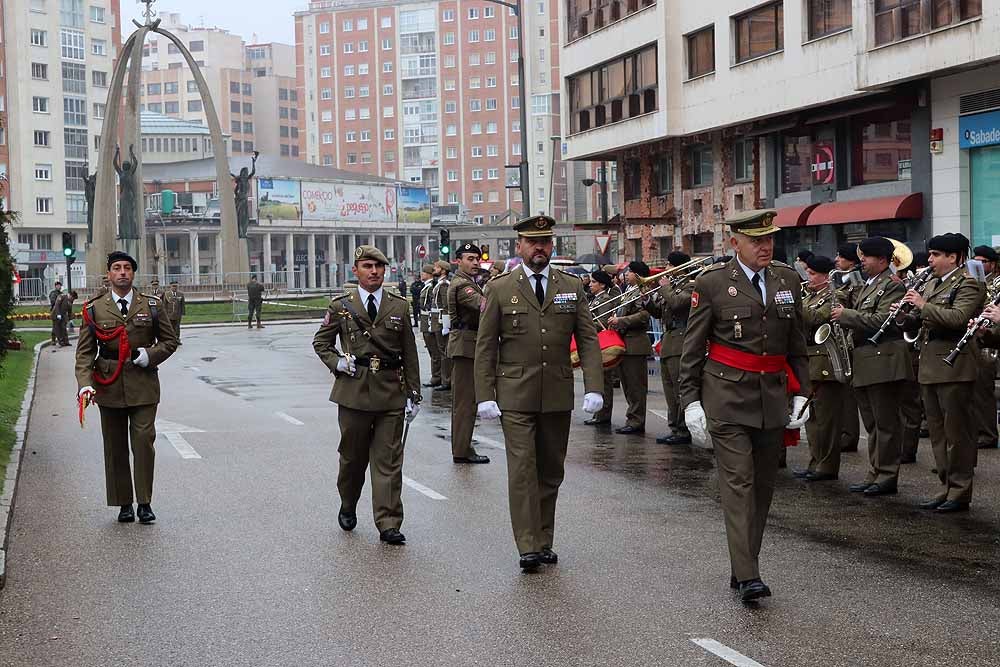
<svg viewBox="0 0 1000 667"><path fill-rule="evenodd" d="M710 434L715 447L729 583L744 602L771 595L758 558L783 433L809 416L800 280L772 259L776 214L753 210L727 221L736 257L695 280L681 354L685 420L696 442Z"/></svg>

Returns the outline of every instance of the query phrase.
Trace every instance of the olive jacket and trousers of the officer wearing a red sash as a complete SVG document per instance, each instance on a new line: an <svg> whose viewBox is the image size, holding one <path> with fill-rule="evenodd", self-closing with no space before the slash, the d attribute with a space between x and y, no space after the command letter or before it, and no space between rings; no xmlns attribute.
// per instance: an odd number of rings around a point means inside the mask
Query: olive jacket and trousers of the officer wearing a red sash
<svg viewBox="0 0 1000 667"><path fill-rule="evenodd" d="M759 556L788 423L785 373L743 371L707 359L711 343L753 355L784 355L802 395L809 359L799 275L787 264L765 270L767 303L733 258L695 280L681 354L680 401L701 401L719 469L732 574L760 577Z"/></svg>

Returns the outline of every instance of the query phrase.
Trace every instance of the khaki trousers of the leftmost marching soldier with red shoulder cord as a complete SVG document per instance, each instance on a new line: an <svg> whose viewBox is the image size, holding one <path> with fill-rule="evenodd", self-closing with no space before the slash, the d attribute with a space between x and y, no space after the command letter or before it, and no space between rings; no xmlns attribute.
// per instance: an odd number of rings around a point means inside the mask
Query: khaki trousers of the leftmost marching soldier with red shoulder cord
<svg viewBox="0 0 1000 667"><path fill-rule="evenodd" d="M131 408L98 407L101 411L101 435L104 436L104 480L108 505L131 505L133 500L148 505L153 499L153 464L156 461L153 447L156 440L156 403ZM128 458L130 441L134 475Z"/></svg>

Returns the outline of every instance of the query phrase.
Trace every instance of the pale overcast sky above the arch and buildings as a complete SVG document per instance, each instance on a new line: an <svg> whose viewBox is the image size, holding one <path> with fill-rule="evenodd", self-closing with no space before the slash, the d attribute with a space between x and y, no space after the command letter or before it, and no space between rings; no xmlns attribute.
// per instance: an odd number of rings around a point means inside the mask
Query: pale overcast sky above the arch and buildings
<svg viewBox="0 0 1000 667"><path fill-rule="evenodd" d="M292 12L306 9L308 0L157 0L153 10L170 11L181 15L188 25L217 27L243 37L248 43L257 34L258 42L283 42L295 44L295 24ZM126 39L135 26L132 19L141 21L145 5L138 0L122 0L122 39Z"/></svg>

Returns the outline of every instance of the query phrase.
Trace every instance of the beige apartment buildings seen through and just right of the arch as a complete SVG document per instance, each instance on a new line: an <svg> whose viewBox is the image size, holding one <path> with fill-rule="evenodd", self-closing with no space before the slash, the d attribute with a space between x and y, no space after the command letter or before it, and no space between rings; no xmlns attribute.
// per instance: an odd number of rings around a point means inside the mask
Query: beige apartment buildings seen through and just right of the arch
<svg viewBox="0 0 1000 667"><path fill-rule="evenodd" d="M159 18L201 68L223 132L231 135L230 152L292 155L292 116L298 113L293 47L248 45L227 30L188 25L177 13L161 12ZM143 47L142 84L144 111L207 126L204 102L184 56L160 35L150 35Z"/></svg>

